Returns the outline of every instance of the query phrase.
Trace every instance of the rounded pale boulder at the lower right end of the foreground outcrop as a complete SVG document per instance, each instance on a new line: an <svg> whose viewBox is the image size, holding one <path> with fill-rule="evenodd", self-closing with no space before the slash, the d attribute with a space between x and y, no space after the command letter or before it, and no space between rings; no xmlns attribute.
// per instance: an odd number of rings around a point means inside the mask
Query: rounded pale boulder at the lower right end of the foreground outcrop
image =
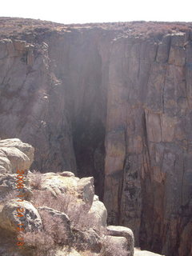
<svg viewBox="0 0 192 256"><path fill-rule="evenodd" d="M132 230L125 226L107 226L106 233L116 237L124 237L127 240L127 249L130 256L134 255L134 234Z"/></svg>

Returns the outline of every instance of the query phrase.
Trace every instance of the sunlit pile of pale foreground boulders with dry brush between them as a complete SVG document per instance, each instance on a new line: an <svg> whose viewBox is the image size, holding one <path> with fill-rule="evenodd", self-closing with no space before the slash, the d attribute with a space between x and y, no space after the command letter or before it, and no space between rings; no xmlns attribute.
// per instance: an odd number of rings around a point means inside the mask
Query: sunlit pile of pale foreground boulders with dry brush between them
<svg viewBox="0 0 192 256"><path fill-rule="evenodd" d="M7 140L6 146L11 143ZM77 178L69 171L41 174L26 170L20 174L17 162L12 167L14 174L1 174L6 184L0 200L3 256L112 256L118 249L121 256L133 256L131 231L121 226L106 229L106 207L94 195L94 178ZM17 188L21 175L25 177L23 188ZM108 234L109 230L114 236ZM18 247L21 242L22 247Z"/></svg>

